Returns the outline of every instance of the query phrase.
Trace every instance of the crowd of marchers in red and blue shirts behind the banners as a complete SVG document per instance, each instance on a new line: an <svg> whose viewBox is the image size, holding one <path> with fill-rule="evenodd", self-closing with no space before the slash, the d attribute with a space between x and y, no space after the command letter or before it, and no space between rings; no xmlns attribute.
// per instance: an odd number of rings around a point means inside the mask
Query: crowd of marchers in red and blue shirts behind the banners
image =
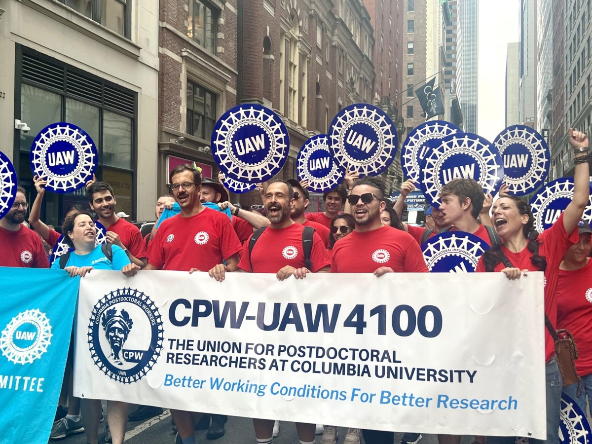
<svg viewBox="0 0 592 444"><path fill-rule="evenodd" d="M491 246L478 263L477 272L502 272L518 279L526 271L545 274L545 314L555 328L569 329L577 343L580 358L577 371L584 381L581 394L576 387L564 390L585 410L592 392L592 275L590 248L592 229L581 217L588 202L588 139L570 129L574 151L574 197L553 226L538 233L525 201L500 193L493 202L472 179L452 179L439 194L441 204L430 207L426 227L401 222L404 198L414 184L407 181L392 204L380 178L359 178L348 171L343 185L323 195L325 211L307 213L310 195L306 182L294 179L259 184L261 205L250 209L233 205L218 181L202 178L189 165L176 166L169 176L170 195L159 197L157 223L143 239L139 229L118 216L117 202L110 185L89 181L89 209L106 229L105 244L95 244L95 219L87 208L68 208L62 233L70 252L50 265L44 242L53 246L60 236L40 220L44 178L35 178L37 197L28 218L34 230L23 225L28 202L25 190L18 188L12 208L0 220L0 266L65 269L70 276L85 276L93 269L121 271L127 276L149 270L207 272L223 281L229 272L272 273L279 280L290 276L303 279L309 273L372 273L379 277L392 272L427 272L420 244L443 231L466 231ZM343 211L342 211L343 208ZM170 214L172 217L166 217ZM196 233L205 232L203 242ZM286 252L288 246L297 246ZM300 247L302 246L302 247ZM376 252L386 252L377 258ZM187 258L192 258L188 260ZM540 334L536 332L535 334ZM546 424L545 442L558 443L561 372L556 363L555 344L547 330ZM72 396L72 347L63 378L54 440L86 433L89 444L98 442L102 420L100 400L79 400ZM532 406L539 411L539 406ZM141 420L162 413L162 408L140 406L128 413L126 403L108 401L108 439L123 443L127 420ZM194 430L208 429L208 439L224 435L227 417L190 411L170 410L176 427L176 443L195 444ZM339 425L339 424L335 424ZM253 419L258 444L271 444L279 433L274 419ZM334 444L337 429L326 424L296 424L300 444L313 444L317 432L322 444ZM349 429L345 444L359 444L361 435L368 444L393 444L394 433ZM419 433L405 433L403 444L416 444ZM459 444L461 436L439 435L440 444ZM475 436L475 442L513 442L514 437ZM532 440L535 442L538 440Z"/></svg>

